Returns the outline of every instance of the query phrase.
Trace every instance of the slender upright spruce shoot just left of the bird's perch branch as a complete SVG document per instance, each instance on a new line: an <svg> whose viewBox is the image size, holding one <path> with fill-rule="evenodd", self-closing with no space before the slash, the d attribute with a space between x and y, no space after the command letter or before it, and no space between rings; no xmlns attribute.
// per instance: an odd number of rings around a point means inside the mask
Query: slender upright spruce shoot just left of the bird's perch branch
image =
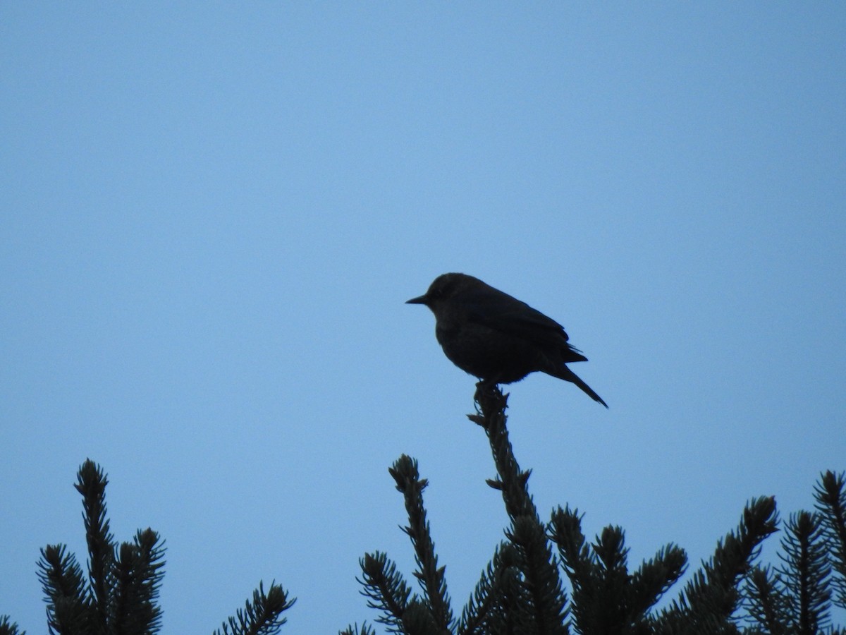
<svg viewBox="0 0 846 635"><path fill-rule="evenodd" d="M400 456L388 472L405 499L409 525L403 527L403 531L411 538L415 549L417 571L414 575L420 581L438 631L452 632L453 611L450 608L447 583L444 579L445 568L437 566L435 542L431 538L429 522L426 521L426 508L423 506L423 490L428 482L425 478L420 478L417 461L406 455Z"/></svg>

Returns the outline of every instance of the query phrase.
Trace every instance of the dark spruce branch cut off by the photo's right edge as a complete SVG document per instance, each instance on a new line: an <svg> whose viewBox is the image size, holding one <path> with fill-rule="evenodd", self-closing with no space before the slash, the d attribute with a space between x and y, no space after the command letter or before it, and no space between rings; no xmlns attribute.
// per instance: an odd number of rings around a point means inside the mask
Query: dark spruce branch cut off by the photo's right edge
<svg viewBox="0 0 846 635"><path fill-rule="evenodd" d="M821 474L814 498L830 545L834 604L846 609L846 472Z"/></svg>

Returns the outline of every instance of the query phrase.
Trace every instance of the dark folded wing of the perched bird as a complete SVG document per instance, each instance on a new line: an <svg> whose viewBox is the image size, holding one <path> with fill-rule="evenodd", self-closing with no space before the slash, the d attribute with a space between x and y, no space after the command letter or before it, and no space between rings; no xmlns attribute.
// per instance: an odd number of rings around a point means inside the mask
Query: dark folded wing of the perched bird
<svg viewBox="0 0 846 635"><path fill-rule="evenodd" d="M503 291L493 287L469 290L462 294L461 300L467 317L475 323L528 340L541 348L559 349L564 362L587 361L579 349L568 343L569 337L561 324Z"/></svg>

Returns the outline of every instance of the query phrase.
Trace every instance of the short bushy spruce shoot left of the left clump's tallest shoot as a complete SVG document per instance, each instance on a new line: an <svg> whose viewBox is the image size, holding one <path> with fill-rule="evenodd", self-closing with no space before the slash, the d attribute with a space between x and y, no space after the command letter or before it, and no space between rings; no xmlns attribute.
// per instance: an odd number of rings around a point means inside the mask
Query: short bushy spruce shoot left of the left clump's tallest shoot
<svg viewBox="0 0 846 635"><path fill-rule="evenodd" d="M48 544L41 549L38 569L47 602L48 631L62 635L91 632L94 610L74 555L63 544Z"/></svg>

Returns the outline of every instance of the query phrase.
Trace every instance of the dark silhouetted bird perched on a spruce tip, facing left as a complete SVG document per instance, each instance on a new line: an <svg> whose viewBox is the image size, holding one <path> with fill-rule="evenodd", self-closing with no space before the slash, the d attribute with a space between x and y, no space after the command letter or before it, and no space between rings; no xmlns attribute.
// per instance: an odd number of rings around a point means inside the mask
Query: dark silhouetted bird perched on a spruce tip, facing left
<svg viewBox="0 0 846 635"><path fill-rule="evenodd" d="M406 304L424 304L431 309L435 336L444 354L483 382L511 384L540 371L573 382L608 407L566 366L587 362L587 357L569 344L563 326L490 284L464 273L444 273L426 295Z"/></svg>

